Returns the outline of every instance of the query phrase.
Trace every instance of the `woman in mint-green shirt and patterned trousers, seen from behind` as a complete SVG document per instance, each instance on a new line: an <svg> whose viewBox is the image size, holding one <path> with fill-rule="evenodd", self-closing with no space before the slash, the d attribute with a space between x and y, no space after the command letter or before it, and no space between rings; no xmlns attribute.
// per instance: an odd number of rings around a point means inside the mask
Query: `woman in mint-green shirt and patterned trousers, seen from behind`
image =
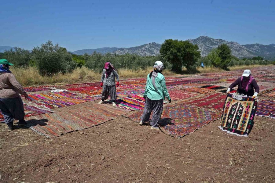
<svg viewBox="0 0 275 183"><path fill-rule="evenodd" d="M161 74L163 70L163 63L156 61L154 70L148 74L145 92L143 97L145 98L144 112L141 116L140 125L143 125L145 121L149 121L150 115L153 111L152 120L150 122L151 129L158 130L158 122L160 120L163 110L163 100L165 97L171 102L168 90L166 88L165 77Z"/></svg>

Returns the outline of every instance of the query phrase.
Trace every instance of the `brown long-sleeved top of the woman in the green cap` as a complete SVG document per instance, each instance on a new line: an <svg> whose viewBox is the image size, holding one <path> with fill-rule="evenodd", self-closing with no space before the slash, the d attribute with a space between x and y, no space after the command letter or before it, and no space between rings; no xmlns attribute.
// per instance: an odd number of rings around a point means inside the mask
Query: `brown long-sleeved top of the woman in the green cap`
<svg viewBox="0 0 275 183"><path fill-rule="evenodd" d="M16 98L26 94L12 73L0 73L0 98Z"/></svg>

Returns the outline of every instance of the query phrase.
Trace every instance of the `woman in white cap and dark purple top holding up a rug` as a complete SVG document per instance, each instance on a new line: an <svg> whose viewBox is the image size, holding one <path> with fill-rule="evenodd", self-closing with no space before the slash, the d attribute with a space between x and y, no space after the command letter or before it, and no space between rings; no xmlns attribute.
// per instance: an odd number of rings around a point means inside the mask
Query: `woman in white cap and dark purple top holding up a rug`
<svg viewBox="0 0 275 183"><path fill-rule="evenodd" d="M243 76L239 77L236 81L234 81L234 83L232 83L229 86L226 92L229 93L229 91L237 85L238 85L237 92L239 94L252 96L253 98L257 97L260 90L256 80L251 75L250 70L244 70ZM255 93L254 93L254 89L255 89Z"/></svg>

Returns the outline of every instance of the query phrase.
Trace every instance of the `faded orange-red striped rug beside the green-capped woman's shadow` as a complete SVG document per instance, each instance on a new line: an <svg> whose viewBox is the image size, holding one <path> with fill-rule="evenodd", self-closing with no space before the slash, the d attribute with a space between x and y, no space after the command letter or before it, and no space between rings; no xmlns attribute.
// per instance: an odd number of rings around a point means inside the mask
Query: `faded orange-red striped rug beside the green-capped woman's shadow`
<svg viewBox="0 0 275 183"><path fill-rule="evenodd" d="M75 110L26 118L27 126L47 138L89 128L126 114L128 111L107 104L82 106Z"/></svg>

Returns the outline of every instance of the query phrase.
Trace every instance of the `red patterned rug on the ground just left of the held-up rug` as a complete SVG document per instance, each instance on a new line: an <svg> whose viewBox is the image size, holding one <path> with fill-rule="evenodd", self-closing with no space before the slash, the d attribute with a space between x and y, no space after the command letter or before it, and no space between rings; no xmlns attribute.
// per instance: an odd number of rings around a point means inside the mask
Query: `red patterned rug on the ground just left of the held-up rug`
<svg viewBox="0 0 275 183"><path fill-rule="evenodd" d="M204 97L201 97L199 99L189 101L189 102L182 102L182 103L215 110L219 113L219 115L221 115L225 99L226 99L226 94L224 93L214 93L214 94L212 93Z"/></svg>

